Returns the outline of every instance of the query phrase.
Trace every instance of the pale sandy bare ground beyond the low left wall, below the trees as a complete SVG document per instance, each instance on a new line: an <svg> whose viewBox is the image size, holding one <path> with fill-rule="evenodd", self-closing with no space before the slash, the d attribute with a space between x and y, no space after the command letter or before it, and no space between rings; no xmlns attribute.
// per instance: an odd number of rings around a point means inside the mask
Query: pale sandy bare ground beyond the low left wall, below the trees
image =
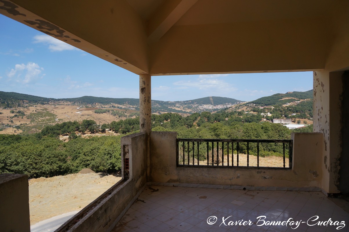
<svg viewBox="0 0 349 232"><path fill-rule="evenodd" d="M30 224L81 210L121 180L98 173L70 174L29 180Z"/></svg>

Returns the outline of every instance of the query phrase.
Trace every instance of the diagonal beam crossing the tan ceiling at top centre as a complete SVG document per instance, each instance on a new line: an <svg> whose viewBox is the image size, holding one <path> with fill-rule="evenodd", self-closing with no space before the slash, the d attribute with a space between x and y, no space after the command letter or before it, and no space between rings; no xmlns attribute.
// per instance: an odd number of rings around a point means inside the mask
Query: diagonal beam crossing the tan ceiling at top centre
<svg viewBox="0 0 349 232"><path fill-rule="evenodd" d="M148 43L158 41L198 0L173 0L164 4L148 20Z"/></svg>

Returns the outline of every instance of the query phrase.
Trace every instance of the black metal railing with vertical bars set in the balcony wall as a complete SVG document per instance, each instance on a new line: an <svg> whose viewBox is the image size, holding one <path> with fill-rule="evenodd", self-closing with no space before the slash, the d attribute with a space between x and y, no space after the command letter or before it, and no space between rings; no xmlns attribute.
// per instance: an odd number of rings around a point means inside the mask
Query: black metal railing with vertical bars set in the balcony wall
<svg viewBox="0 0 349 232"><path fill-rule="evenodd" d="M179 138L177 166L290 169L292 140Z"/></svg>

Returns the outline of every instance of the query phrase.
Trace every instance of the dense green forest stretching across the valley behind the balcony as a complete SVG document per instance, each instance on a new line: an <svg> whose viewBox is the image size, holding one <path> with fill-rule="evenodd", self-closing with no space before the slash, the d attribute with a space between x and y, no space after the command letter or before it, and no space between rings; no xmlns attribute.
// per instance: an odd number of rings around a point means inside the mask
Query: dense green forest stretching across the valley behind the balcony
<svg viewBox="0 0 349 232"><path fill-rule="evenodd" d="M152 115L153 131L176 131L178 138L290 139L291 132L312 132L312 126L289 130L281 124L260 122L261 116L221 111L194 113L183 117L176 113ZM117 136L81 134L105 133ZM127 118L98 125L93 120L64 122L45 126L31 135L0 135L0 173L23 173L30 178L76 173L82 168L96 172L115 172L121 168L120 137L139 132L139 118ZM59 135L69 135L63 142ZM273 155L278 148L265 148ZM276 149L276 150L275 150ZM240 152L244 153L243 147Z"/></svg>

